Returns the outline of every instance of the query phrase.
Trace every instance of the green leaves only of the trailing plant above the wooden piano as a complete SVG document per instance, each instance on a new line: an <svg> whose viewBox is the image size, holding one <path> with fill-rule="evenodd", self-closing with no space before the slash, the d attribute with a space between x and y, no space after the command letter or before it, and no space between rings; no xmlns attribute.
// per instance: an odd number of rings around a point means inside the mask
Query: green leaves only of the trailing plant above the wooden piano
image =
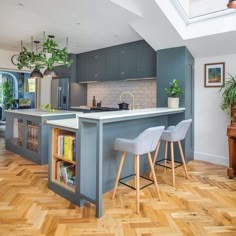
<svg viewBox="0 0 236 236"><path fill-rule="evenodd" d="M226 79L224 87L220 89L220 91L223 91L221 108L226 112L229 111L233 104L236 104L236 76L233 77L230 74L229 76L230 78Z"/></svg>

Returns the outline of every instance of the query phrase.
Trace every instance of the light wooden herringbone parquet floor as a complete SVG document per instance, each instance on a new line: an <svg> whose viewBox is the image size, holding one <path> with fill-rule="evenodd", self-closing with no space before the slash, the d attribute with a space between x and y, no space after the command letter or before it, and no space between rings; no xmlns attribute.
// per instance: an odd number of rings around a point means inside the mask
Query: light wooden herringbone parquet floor
<svg viewBox="0 0 236 236"><path fill-rule="evenodd" d="M135 192L119 187L117 197L103 196L103 217L95 207L79 208L47 188L47 166L38 166L4 150L0 139L0 235L236 235L236 178L226 168L188 163L190 179L177 169L158 169L161 201L154 186L141 190L141 213L135 214Z"/></svg>

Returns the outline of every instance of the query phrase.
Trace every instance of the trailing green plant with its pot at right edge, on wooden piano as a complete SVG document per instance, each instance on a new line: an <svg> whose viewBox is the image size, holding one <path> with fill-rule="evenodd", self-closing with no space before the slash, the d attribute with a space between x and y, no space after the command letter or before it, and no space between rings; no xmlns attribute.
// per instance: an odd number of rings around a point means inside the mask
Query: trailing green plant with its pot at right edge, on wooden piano
<svg viewBox="0 0 236 236"><path fill-rule="evenodd" d="M228 75L230 78L226 79L224 87L220 89L223 91L221 109L230 115L231 125L236 126L236 76Z"/></svg>

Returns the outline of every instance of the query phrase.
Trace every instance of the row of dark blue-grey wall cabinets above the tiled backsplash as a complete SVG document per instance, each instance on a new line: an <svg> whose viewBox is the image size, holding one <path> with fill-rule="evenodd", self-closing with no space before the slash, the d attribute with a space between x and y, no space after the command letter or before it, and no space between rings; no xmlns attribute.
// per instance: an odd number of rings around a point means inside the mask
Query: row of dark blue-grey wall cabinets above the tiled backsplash
<svg viewBox="0 0 236 236"><path fill-rule="evenodd" d="M156 52L136 41L77 55L78 82L156 76Z"/></svg>

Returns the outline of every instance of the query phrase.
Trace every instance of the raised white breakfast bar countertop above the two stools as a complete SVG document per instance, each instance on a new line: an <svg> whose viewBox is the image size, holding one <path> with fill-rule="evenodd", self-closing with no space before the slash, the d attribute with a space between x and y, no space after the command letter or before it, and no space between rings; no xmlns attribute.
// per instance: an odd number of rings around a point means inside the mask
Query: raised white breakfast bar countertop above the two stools
<svg viewBox="0 0 236 236"><path fill-rule="evenodd" d="M93 113L83 113L79 114L79 118L88 118L94 120L106 120L114 118L124 118L124 117L135 117L142 115L165 115L170 113L176 113L184 111L185 108L148 108L148 109L138 109L138 110L121 110L121 111L108 111L108 112L93 112Z"/></svg>

